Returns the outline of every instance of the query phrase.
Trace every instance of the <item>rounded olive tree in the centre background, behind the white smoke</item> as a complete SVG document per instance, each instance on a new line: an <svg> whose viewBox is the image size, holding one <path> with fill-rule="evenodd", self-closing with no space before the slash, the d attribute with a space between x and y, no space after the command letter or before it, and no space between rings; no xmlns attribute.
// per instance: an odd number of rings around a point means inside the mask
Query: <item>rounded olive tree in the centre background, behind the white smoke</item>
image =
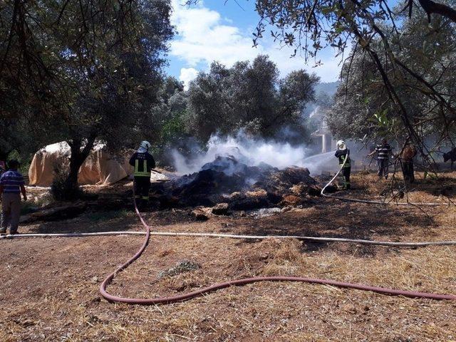
<svg viewBox="0 0 456 342"><path fill-rule="evenodd" d="M279 79L267 56L227 68L214 62L209 73L190 83L188 130L203 142L214 133L272 137L286 125L299 125L304 105L314 99L315 75L294 71Z"/></svg>

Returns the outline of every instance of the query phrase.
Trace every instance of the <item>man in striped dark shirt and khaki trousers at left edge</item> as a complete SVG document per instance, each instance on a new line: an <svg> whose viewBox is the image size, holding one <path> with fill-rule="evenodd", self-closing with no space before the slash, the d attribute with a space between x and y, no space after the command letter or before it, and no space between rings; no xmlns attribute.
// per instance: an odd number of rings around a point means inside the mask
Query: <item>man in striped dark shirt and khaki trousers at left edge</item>
<svg viewBox="0 0 456 342"><path fill-rule="evenodd" d="M1 228L0 234L18 234L19 217L21 215L21 192L24 201L27 200L24 177L18 172L19 162L10 160L9 170L0 177L1 198Z"/></svg>

